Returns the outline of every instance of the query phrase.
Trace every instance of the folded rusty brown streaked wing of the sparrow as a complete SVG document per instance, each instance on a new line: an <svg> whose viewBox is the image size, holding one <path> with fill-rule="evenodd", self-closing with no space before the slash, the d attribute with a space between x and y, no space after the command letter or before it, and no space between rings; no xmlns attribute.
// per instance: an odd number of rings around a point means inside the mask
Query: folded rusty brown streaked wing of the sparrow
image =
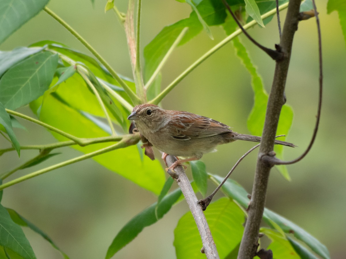
<svg viewBox="0 0 346 259"><path fill-rule="evenodd" d="M210 137L232 132L226 124L188 112L174 113L170 123L174 124L175 130L172 137L177 140Z"/></svg>

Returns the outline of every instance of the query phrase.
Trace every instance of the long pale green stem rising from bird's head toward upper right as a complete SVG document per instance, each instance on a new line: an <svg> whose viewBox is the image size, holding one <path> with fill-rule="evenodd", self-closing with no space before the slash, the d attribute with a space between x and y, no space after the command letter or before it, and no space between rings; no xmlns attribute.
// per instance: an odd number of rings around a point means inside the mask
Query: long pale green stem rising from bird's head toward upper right
<svg viewBox="0 0 346 259"><path fill-rule="evenodd" d="M288 2L282 4L279 6L279 11L285 9L288 7ZM270 10L269 12L266 12L264 15L261 16L262 19L265 19L271 15L273 15L276 12L276 8ZM251 22L247 23L243 26L244 29L248 29L250 27L253 27L257 24L255 20L252 20ZM194 70L196 67L198 67L204 60L209 58L212 54L214 54L217 50L219 50L221 47L225 46L229 41L237 37L240 33L242 33L241 29L236 30L231 35L227 36L225 39L220 41L217 45L215 45L213 48L211 48L209 51L207 51L203 56L201 56L199 59L197 59L191 66L189 66L183 73L181 73L177 78L174 79L174 81L167 86L158 96L156 96L154 99L149 101L149 103L152 104L158 104L162 101L162 99L169 93L171 90L180 83L180 81L185 78L188 74L191 73L192 70Z"/></svg>

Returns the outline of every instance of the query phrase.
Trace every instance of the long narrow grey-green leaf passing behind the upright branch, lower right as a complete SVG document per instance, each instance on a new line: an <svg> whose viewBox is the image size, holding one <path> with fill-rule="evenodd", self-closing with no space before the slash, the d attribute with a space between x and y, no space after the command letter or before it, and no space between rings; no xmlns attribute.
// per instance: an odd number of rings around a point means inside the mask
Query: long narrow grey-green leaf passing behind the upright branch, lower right
<svg viewBox="0 0 346 259"><path fill-rule="evenodd" d="M211 175L218 184L221 183L224 179L218 175ZM236 181L228 179L224 185L222 185L222 191L230 198L237 201L244 208L247 208L249 199L247 198L246 190L240 186ZM312 251L316 252L319 256L329 259L330 255L326 246L324 246L320 241L315 237L311 236L304 229L300 228L293 222L285 219L279 214L265 208L263 213L263 220L271 227L271 221L274 221L285 233L294 233L294 237L298 240L307 244Z"/></svg>

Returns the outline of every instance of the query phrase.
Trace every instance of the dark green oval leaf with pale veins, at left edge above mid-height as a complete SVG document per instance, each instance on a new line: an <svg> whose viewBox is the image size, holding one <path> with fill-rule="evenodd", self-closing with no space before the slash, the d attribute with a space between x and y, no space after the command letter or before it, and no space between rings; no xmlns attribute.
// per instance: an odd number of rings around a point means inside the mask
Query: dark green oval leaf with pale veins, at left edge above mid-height
<svg viewBox="0 0 346 259"><path fill-rule="evenodd" d="M58 55L40 52L11 67L0 79L0 102L15 110L35 100L48 89Z"/></svg>

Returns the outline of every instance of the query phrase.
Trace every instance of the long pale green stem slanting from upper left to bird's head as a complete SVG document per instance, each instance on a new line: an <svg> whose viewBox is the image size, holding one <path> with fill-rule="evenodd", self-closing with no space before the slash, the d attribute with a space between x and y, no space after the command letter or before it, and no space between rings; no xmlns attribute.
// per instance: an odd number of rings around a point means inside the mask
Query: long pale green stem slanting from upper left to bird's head
<svg viewBox="0 0 346 259"><path fill-rule="evenodd" d="M107 63L106 60L104 60L100 54L98 54L98 52L91 47L91 45L86 42L83 37L81 35L79 35L78 32L76 32L74 29L72 29L72 27L70 25L68 25L63 19L61 19L59 16L57 16L53 11L51 11L49 8L45 7L44 10L50 15L52 16L56 21L58 21L62 26L64 26L69 32L71 32L71 34L76 37L76 39L78 39L94 56L95 58L97 58L100 63L106 67L106 69L109 71L109 73L114 77L114 79L116 79L118 81L118 83L120 84L120 86L122 88L124 88L125 92L127 93L127 95L130 97L130 99L132 100L132 102L134 104L140 104L141 101L139 99L139 97L131 90L131 88L118 76L118 74L116 73L116 71L114 71L111 66Z"/></svg>

